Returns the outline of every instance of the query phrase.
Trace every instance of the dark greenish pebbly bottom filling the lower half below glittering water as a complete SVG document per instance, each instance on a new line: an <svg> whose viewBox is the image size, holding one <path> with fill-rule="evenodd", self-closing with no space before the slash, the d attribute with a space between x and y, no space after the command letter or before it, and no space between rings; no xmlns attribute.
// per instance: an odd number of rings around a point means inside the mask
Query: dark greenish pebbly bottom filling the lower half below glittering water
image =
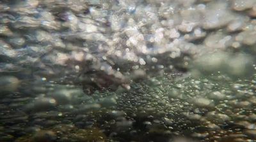
<svg viewBox="0 0 256 142"><path fill-rule="evenodd" d="M256 76L176 76L92 96L77 86L24 81L1 94L0 141L256 140Z"/></svg>

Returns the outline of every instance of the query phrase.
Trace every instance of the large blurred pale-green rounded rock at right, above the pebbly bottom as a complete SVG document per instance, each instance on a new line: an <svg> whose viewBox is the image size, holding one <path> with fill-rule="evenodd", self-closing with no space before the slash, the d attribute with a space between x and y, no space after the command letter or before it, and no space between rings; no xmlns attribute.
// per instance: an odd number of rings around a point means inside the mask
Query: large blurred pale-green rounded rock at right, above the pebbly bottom
<svg viewBox="0 0 256 142"><path fill-rule="evenodd" d="M219 52L203 55L195 60L195 75L199 71L205 75L224 73L234 79L247 78L254 73L252 60L250 55L243 53L228 55L228 53Z"/></svg>

